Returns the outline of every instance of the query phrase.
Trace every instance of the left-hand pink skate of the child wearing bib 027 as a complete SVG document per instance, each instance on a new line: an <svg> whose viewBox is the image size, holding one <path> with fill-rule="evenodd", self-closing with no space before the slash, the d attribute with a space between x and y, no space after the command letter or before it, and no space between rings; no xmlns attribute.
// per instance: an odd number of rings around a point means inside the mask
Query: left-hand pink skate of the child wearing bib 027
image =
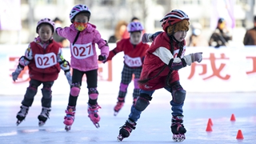
<svg viewBox="0 0 256 144"><path fill-rule="evenodd" d="M66 112L66 116L64 117L63 123L66 125L65 130L68 131L71 129L71 125L74 122L75 107L67 106L65 112Z"/></svg>

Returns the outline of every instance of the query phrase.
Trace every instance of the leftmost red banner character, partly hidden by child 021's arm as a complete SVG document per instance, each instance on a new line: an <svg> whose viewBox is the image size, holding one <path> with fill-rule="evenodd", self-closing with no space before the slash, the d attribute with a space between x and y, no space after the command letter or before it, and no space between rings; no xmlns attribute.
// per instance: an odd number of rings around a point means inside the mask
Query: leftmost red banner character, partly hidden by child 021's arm
<svg viewBox="0 0 256 144"><path fill-rule="evenodd" d="M14 72L14 70L16 70L17 66L18 66L18 57L10 57L9 58L9 62L10 62L10 77L11 73ZM22 83L22 82L29 82L30 81L30 76L29 76L29 69L26 66L24 68L24 70L22 70L21 74L18 75L18 79L14 82L14 83Z"/></svg>

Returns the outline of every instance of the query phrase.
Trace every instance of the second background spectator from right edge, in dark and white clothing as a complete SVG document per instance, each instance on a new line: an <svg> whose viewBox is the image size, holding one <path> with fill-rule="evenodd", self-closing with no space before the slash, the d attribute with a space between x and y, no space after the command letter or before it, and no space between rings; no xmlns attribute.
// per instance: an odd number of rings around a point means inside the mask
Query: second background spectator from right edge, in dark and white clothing
<svg viewBox="0 0 256 144"><path fill-rule="evenodd" d="M210 36L209 46L218 48L219 46L228 46L228 42L232 40L230 30L226 26L224 18L218 19L218 25L214 30L214 33Z"/></svg>

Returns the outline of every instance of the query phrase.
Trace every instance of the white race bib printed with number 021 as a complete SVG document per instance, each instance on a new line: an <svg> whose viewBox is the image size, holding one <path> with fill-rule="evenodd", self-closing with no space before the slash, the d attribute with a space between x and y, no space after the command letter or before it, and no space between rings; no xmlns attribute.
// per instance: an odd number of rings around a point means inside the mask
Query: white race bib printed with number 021
<svg viewBox="0 0 256 144"><path fill-rule="evenodd" d="M35 66L40 69L45 69L57 64L57 57L54 53L48 54L35 54L34 55Z"/></svg>

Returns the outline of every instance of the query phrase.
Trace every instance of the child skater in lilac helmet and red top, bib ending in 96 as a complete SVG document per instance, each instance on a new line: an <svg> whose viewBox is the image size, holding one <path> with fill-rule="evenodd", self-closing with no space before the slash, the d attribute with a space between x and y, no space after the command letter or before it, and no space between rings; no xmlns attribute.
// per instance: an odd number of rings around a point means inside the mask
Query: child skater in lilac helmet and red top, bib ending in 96
<svg viewBox="0 0 256 144"><path fill-rule="evenodd" d="M127 87L129 86L132 76L134 74L134 102L138 98L138 78L142 72L142 62L146 54L146 50L150 47L146 43L142 43L142 30L144 30L141 22L130 22L127 26L127 30L130 33L130 38L124 38L117 42L117 47L110 51L110 55L107 60L111 60L115 54L123 51L124 66L122 69L122 80L119 87L118 102L114 106L114 115L118 114L118 111L122 109L125 102L127 93Z"/></svg>

